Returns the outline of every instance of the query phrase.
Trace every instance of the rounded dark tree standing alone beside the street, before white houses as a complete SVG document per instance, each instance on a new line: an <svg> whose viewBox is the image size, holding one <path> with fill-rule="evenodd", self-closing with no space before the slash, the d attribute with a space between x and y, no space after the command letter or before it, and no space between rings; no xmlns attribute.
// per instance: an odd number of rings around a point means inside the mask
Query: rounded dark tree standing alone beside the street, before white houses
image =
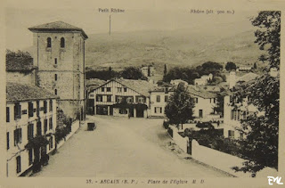
<svg viewBox="0 0 285 188"><path fill-rule="evenodd" d="M193 108L195 107L194 99L187 91L183 83L175 89L175 93L169 97L165 113L169 123L179 127L186 123L187 120L193 119Z"/></svg>

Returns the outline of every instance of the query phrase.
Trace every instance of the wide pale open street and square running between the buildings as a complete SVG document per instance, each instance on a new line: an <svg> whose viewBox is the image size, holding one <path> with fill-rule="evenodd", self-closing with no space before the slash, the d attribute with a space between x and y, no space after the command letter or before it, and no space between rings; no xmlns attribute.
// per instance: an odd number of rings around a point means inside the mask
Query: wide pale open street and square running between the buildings
<svg viewBox="0 0 285 188"><path fill-rule="evenodd" d="M87 117L97 128L77 134L51 156L40 177L225 177L214 168L183 159L168 146L162 119Z"/></svg>

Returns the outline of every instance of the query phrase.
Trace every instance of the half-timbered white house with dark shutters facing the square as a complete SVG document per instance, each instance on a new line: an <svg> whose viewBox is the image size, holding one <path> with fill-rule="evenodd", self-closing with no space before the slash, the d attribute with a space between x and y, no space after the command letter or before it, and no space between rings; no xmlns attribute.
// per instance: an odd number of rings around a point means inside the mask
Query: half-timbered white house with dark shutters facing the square
<svg viewBox="0 0 285 188"><path fill-rule="evenodd" d="M147 118L149 90L154 86L145 80L112 79L88 97L94 101L94 115Z"/></svg>

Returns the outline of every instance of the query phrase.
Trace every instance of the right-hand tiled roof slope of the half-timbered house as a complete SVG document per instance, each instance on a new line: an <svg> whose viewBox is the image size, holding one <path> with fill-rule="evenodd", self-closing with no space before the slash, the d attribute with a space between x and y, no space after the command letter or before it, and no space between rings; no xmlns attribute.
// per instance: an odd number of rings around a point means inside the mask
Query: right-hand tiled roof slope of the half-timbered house
<svg viewBox="0 0 285 188"><path fill-rule="evenodd" d="M149 96L150 95L149 92L157 86L145 80L118 78L118 79L115 79L115 81L117 81L118 83L124 86L127 86L133 89L135 92L142 94L144 96Z"/></svg>

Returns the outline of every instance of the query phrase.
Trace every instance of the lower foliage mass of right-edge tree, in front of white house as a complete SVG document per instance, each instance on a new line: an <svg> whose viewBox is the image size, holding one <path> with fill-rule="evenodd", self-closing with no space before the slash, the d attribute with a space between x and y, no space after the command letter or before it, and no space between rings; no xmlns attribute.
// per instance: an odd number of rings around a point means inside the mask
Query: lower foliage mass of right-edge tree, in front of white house
<svg viewBox="0 0 285 188"><path fill-rule="evenodd" d="M255 83L241 86L236 97L239 100L248 97L248 104L255 105L263 113L254 113L241 122L239 131L246 135L241 144L242 154L248 162L234 169L256 173L265 167L277 168L280 78L267 74Z"/></svg>

